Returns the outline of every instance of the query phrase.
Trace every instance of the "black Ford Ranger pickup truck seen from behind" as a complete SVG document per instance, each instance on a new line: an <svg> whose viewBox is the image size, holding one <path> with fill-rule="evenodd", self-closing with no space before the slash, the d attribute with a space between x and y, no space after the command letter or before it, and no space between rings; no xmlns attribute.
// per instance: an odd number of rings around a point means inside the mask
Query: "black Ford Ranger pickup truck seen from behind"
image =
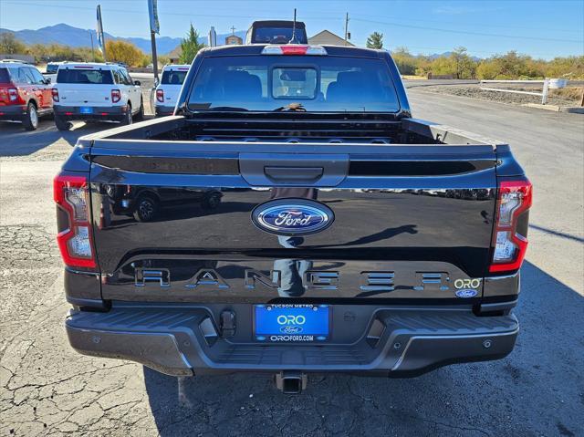
<svg viewBox="0 0 584 437"><path fill-rule="evenodd" d="M203 49L174 115L79 139L55 179L68 338L285 392L501 359L531 196L507 144L413 119L386 51Z"/></svg>

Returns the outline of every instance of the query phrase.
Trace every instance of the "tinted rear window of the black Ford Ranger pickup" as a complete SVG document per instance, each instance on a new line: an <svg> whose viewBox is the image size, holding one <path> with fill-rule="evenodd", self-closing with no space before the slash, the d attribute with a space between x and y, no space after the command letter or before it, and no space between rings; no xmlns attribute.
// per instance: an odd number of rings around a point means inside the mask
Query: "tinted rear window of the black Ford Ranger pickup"
<svg viewBox="0 0 584 437"><path fill-rule="evenodd" d="M383 59L255 56L203 59L189 109L362 113L400 105Z"/></svg>

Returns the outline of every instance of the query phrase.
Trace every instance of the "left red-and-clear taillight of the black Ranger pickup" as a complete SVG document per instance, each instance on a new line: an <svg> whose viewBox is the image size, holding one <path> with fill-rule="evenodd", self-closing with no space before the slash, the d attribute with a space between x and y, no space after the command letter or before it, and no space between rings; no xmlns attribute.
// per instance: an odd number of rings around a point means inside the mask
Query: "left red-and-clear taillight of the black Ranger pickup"
<svg viewBox="0 0 584 437"><path fill-rule="evenodd" d="M53 194L57 208L66 214L66 219L57 220L57 243L63 261L70 267L95 267L87 177L57 174Z"/></svg>

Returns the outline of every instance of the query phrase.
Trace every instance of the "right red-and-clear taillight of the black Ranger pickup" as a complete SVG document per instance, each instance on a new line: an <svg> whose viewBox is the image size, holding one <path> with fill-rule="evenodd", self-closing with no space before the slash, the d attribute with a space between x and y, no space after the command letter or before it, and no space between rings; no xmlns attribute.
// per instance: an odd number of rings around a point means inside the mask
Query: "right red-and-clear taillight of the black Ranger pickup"
<svg viewBox="0 0 584 437"><path fill-rule="evenodd" d="M527 251L527 210L532 202L531 182L527 180L502 181L498 191L490 272L521 267Z"/></svg>

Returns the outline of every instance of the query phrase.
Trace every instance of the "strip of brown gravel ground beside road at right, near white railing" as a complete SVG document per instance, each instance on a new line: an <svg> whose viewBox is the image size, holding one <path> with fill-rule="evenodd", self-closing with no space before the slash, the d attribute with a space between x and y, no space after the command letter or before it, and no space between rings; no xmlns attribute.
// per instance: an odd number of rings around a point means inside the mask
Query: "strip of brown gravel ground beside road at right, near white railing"
<svg viewBox="0 0 584 437"><path fill-rule="evenodd" d="M452 94L454 96L468 97L471 99L497 101L501 103L541 103L541 97L530 96L528 94L516 94L509 92L485 91L483 88L503 88L514 89L518 91L541 92L541 87L527 88L527 87L509 87L501 84L487 84L487 85L435 85L424 87L425 91L437 92L441 94ZM547 98L547 103L558 106L578 106L578 102L571 99L554 96L553 91Z"/></svg>

